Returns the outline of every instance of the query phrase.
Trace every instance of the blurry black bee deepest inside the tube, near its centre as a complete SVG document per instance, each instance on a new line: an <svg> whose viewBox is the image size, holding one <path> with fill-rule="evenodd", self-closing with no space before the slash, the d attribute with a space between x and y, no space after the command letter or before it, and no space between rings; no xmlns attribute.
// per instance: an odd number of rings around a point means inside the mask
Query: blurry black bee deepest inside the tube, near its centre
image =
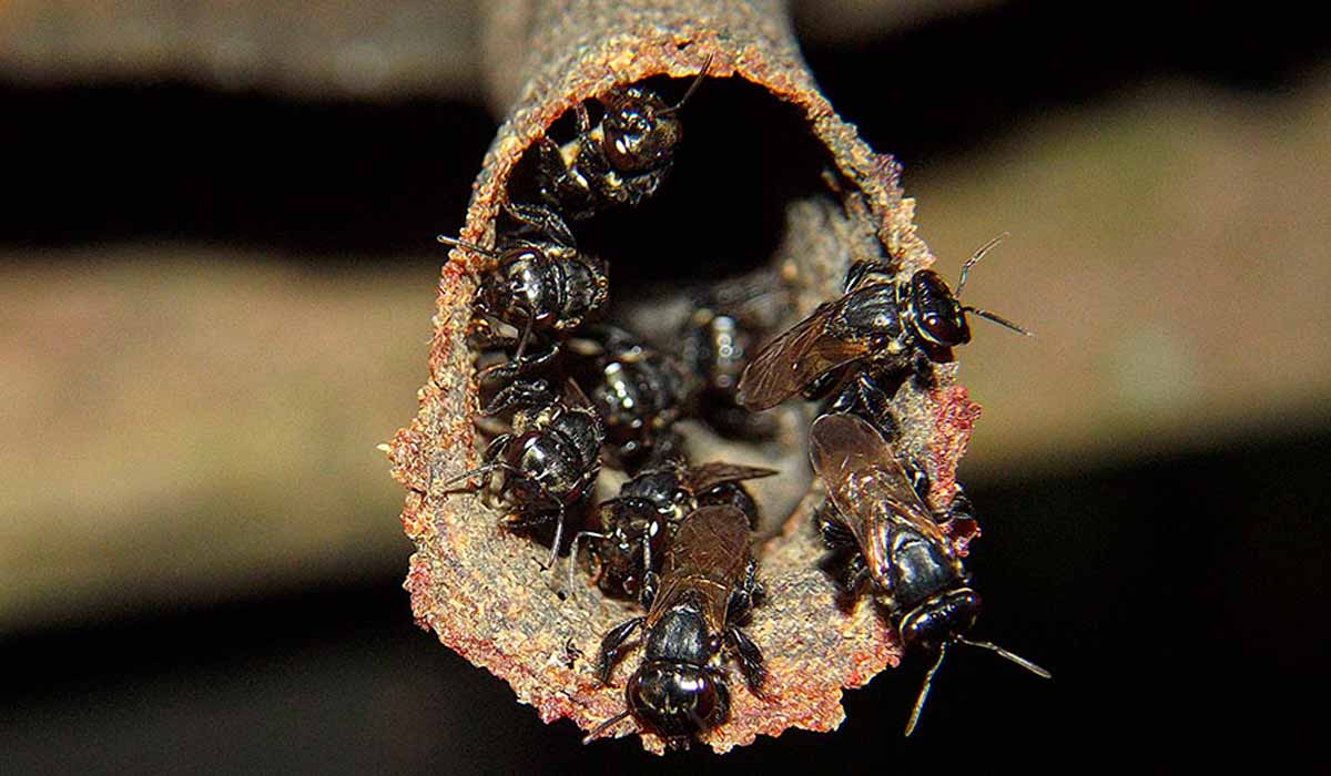
<svg viewBox="0 0 1331 776"><path fill-rule="evenodd" d="M769 417L756 415L739 402L740 375L757 342L739 315L704 303L680 331L685 367L701 382L693 414L732 439L764 439L776 431Z"/></svg>

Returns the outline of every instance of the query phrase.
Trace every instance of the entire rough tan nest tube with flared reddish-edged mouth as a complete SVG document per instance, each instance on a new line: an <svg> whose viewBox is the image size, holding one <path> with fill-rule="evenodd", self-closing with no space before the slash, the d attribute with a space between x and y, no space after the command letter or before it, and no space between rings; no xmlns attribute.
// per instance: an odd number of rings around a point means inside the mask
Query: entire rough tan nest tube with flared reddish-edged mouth
<svg viewBox="0 0 1331 776"><path fill-rule="evenodd" d="M520 12L498 15L494 36L516 36L508 51L524 59L495 71L495 93L512 104L476 178L461 238L492 245L510 182L520 185L524 154L580 101L642 81L681 93L687 81L680 80L711 59L707 81L681 110L684 141L656 197L572 225L579 244L610 262L611 299L631 299L614 302L620 306L612 315L651 338L672 330L671 314L687 314L689 286L759 276L785 294L777 325L788 326L837 295L855 260L890 257L904 273L930 264L896 162L873 153L817 92L783 4L705 5L518 3L508 11ZM390 445L393 474L409 488L403 530L417 544L405 587L418 623L441 642L507 680L543 720L568 717L590 731L623 711L623 684L636 656L608 687L590 660L602 635L635 607L594 587L563 596L564 575L540 570L547 547L500 528L500 515L475 495L441 487L478 463L478 393L466 333L476 277L487 264L469 250L450 253L438 288L430 379L418 394L417 417ZM651 291L660 288L672 290ZM953 383L953 369L940 369L938 378L933 390L900 391L894 410L902 443L929 469L932 498L946 503L978 409ZM764 446L684 430L696 462L781 471L749 483L768 539L757 548L767 598L747 630L767 656L769 679L764 699L732 679L729 720L700 737L721 752L759 733L835 728L844 717L843 688L866 683L900 656L872 603L845 611L819 568L823 548L808 512L821 496L809 492L808 410L793 405L780 410L780 433ZM630 719L606 733L635 731ZM663 748L655 736L643 741Z"/></svg>

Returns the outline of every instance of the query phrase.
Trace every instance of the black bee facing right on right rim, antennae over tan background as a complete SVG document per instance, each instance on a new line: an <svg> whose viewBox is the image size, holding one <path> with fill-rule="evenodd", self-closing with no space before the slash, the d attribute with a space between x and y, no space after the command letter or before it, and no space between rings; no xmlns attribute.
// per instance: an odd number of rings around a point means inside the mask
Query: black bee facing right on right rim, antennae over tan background
<svg viewBox="0 0 1331 776"><path fill-rule="evenodd" d="M910 369L930 379L933 362L949 361L952 347L970 342L966 313L1029 335L1021 326L958 299L970 268L998 240L962 265L956 294L932 270L892 282L881 262L855 265L841 298L824 302L753 357L740 378L740 403L760 411L797 393L816 398L837 390L833 411L855 409L886 422L884 413L892 398L886 386Z"/></svg>

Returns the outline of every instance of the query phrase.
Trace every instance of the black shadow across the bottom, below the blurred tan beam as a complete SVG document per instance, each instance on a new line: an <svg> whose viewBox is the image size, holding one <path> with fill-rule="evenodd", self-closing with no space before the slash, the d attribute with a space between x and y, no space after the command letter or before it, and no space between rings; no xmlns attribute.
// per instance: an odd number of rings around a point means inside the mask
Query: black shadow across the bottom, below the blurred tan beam
<svg viewBox="0 0 1331 776"><path fill-rule="evenodd" d="M976 628L1054 672L1045 683L954 650L921 727L901 728L914 659L847 696L835 735L787 733L659 760L636 740L582 747L411 624L397 576L12 635L0 751L16 772L731 772L1038 768L1067 756L1207 761L1308 743L1327 626L1331 437L1110 471L973 483L985 535ZM759 616L761 614L759 612ZM1217 740L1226 744L1217 748Z"/></svg>

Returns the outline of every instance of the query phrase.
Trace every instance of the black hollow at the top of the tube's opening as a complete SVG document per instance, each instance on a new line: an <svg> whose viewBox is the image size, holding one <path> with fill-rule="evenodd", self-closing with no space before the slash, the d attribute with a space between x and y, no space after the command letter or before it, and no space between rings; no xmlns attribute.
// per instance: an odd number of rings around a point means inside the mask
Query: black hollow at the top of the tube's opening
<svg viewBox="0 0 1331 776"><path fill-rule="evenodd" d="M688 84L648 79L642 85L673 104ZM595 122L598 113L591 117ZM616 289L680 277L701 284L764 266L781 242L787 206L828 190L820 174L831 154L801 112L767 89L709 79L680 118L684 138L655 196L638 208L610 208L570 224L580 248L610 262ZM552 136L570 140L571 124L562 118ZM539 201L534 156L523 158L510 186L515 201Z"/></svg>

